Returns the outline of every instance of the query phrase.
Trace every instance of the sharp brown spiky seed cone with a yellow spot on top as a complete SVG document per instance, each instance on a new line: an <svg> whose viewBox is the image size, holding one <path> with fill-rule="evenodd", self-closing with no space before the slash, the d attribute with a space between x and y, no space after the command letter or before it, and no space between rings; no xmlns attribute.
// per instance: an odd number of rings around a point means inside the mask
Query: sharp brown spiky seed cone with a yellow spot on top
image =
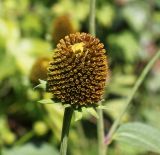
<svg viewBox="0 0 160 155"><path fill-rule="evenodd" d="M104 45L86 33L61 39L48 68L47 87L54 98L73 107L101 101L108 75Z"/></svg>

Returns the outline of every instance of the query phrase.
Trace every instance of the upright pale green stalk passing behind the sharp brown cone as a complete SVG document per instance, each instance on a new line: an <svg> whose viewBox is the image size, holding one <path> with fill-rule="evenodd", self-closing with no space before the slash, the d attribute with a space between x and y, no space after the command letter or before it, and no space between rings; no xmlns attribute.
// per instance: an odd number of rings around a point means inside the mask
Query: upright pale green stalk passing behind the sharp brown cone
<svg viewBox="0 0 160 155"><path fill-rule="evenodd" d="M95 12L96 0L90 0L89 33L93 36L96 36ZM105 155L103 111L102 109L98 109L97 112L99 115L99 119L97 120L98 152L99 155Z"/></svg>

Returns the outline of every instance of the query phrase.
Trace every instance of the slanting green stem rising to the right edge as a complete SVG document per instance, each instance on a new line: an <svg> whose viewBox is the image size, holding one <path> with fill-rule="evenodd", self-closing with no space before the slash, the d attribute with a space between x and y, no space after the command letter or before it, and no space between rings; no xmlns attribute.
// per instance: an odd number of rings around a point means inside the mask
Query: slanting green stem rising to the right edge
<svg viewBox="0 0 160 155"><path fill-rule="evenodd" d="M123 108L123 110L121 111L119 117L115 120L115 122L113 123L111 129L109 130L109 133L107 135L107 145L109 145L112 141L113 135L116 132L120 121L123 117L123 115L125 114L125 112L127 111L127 108L129 106L129 104L131 103L136 91L138 90L138 88L140 87L141 83L143 82L143 80L145 79L146 75L148 74L148 72L151 70L152 66L154 65L154 63L158 60L158 58L160 58L160 50L152 57L152 59L149 61L149 63L147 64L147 66L144 68L144 70L142 71L140 77L138 78L138 80L136 81L131 93L129 94L126 104Z"/></svg>

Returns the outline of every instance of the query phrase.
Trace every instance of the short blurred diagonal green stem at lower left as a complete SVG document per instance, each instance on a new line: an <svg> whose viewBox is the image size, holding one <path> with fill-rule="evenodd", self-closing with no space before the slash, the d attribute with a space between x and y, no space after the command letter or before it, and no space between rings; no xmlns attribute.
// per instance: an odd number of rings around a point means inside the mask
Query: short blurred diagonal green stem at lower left
<svg viewBox="0 0 160 155"><path fill-rule="evenodd" d="M22 144L24 144L25 142L27 142L28 140L30 140L33 136L34 136L34 131L30 131L28 133L26 133L24 136L22 136L14 145L15 146L20 146Z"/></svg>

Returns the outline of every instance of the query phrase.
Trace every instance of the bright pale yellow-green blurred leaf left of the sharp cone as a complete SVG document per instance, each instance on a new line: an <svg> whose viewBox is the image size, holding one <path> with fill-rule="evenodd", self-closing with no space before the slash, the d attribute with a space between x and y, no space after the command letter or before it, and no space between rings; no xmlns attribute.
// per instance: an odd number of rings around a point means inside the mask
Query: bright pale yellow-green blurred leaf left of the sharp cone
<svg viewBox="0 0 160 155"><path fill-rule="evenodd" d="M17 66L23 74L29 74L36 57L50 55L51 45L42 39L24 38L14 48L10 48L10 53L15 57Z"/></svg>

